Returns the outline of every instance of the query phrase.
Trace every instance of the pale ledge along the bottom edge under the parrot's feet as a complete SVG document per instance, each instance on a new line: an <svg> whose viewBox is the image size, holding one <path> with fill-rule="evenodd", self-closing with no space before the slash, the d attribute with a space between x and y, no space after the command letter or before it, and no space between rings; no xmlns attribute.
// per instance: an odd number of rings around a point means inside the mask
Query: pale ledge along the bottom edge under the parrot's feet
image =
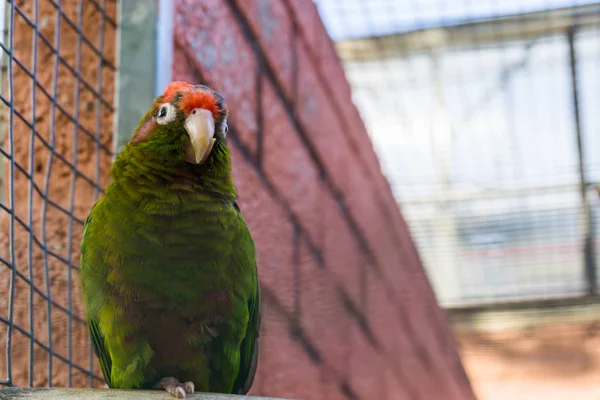
<svg viewBox="0 0 600 400"><path fill-rule="evenodd" d="M235 396L230 394L194 393L190 400L285 400L273 397ZM14 399L127 399L127 400L172 400L167 392L160 390L117 390L117 389L0 389L0 400Z"/></svg>

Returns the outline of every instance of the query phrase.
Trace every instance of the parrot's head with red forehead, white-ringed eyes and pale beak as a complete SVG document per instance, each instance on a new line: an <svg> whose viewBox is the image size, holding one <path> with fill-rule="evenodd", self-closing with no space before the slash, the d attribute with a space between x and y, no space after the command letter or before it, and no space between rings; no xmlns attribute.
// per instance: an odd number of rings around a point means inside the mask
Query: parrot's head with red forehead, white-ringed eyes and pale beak
<svg viewBox="0 0 600 400"><path fill-rule="evenodd" d="M156 98L130 145L162 164L204 164L217 147L226 147L227 129L227 108L219 93L178 81Z"/></svg>

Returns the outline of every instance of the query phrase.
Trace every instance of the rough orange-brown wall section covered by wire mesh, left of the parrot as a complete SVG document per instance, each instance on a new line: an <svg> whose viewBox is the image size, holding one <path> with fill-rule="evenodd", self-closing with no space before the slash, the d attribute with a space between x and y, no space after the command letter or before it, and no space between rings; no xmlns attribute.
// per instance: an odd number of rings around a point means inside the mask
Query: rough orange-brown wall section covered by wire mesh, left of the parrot
<svg viewBox="0 0 600 400"><path fill-rule="evenodd" d="M116 1L1 1L0 27L0 385L99 385L78 264L111 161Z"/></svg>

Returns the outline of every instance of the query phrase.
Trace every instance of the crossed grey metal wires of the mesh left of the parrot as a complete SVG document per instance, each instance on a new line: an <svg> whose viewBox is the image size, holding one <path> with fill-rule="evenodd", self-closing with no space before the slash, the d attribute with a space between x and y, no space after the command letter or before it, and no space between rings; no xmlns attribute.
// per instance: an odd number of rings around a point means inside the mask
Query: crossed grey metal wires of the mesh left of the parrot
<svg viewBox="0 0 600 400"><path fill-rule="evenodd" d="M47 384L48 386L53 385L53 369L54 369L54 359L60 360L61 362L67 364L67 379L66 384L68 386L72 385L72 376L73 370L79 371L88 376L89 385L93 385L94 381L103 382L103 378L100 377L97 373L94 372L93 368L93 355L91 349L91 343L89 349L87 351L89 357L89 363L87 366L80 365L73 361L73 351L72 351L72 335L73 335L73 322L77 324L81 324L85 326L85 319L74 313L73 311L73 293L72 293L72 280L73 270L78 270L77 265L75 265L74 260L72 258L75 245L73 243L74 235L74 225L78 226L83 225L84 221L75 215L75 190L76 190L76 182L78 179L81 179L87 185L93 188L94 190L94 200L97 199L99 193L102 191L102 187L100 185L100 157L101 154L111 155L112 150L102 143L101 140L101 130L102 130L102 111L107 110L110 114L114 113L114 106L112 105L112 100L106 99L103 97L103 69L108 68L112 73L116 71L115 64L109 60L109 57L105 54L104 44L105 44L105 27L110 26L112 29L116 29L117 23L114 18L107 14L107 5L106 0L96 1L96 0L78 0L77 2L77 21L73 21L69 16L64 12L64 4L63 1L58 0L47 0L43 2L44 6L53 8L53 12L56 14L55 20L55 31L54 31L54 42L55 45L52 44L52 41L46 37L40 30L40 19L39 19L39 11L41 0L33 1L33 16L30 17L28 13L22 8L15 4L14 1L11 2L3 2L1 5L5 7L5 15L7 26L6 29L6 39L7 43L0 43L0 48L2 49L2 56L6 57L7 66L5 75L1 76L1 78L7 82L8 84L8 95L4 92L0 93L0 101L3 104L4 108L7 110L8 114L8 123L6 124L6 129L0 132L0 135L5 136L5 140L0 141L0 162L7 163L8 169L7 171L0 169L2 175L0 175L0 184L7 187L7 196L0 198L0 218L8 218L8 231L0 232L2 235L8 235L9 239L9 256L7 258L0 255L0 263L8 269L10 275L10 284L9 284L9 292L8 292L8 312L6 317L0 314L0 327L6 331L6 378L0 377L0 384L2 385L14 385L14 376L13 376L13 367L15 363L14 355L12 354L12 345L14 341L14 337L16 333L19 333L23 337L25 337L29 341L28 345L28 385L34 385L34 378L36 376L36 362L34 358L35 349L42 349L47 353ZM98 46L94 45L92 41L86 37L84 33L84 7L92 6L96 12L100 14L100 24L98 28ZM46 10L48 11L48 10ZM19 56L15 54L15 20L18 17L22 26L27 27L30 31L33 31L33 41L32 41L32 68L28 68L26 66L26 62L21 60ZM67 58L61 54L61 30L63 27L68 26L76 34L76 41L74 43L75 47L75 66L72 66ZM25 28L23 28L25 29ZM39 40L39 41L38 41ZM39 60L38 60L38 45L42 43L47 50L51 52L53 57L52 63L52 82L49 86L46 87L40 80L38 79L39 72ZM72 44L72 43L70 43ZM95 82L89 81L82 74L82 47L86 46L98 59L96 68L97 74ZM59 66L66 68L66 70L73 76L75 80L74 85L74 110L73 112L67 111L67 109L60 104L58 100L59 95ZM15 68L17 67L17 68ZM30 121L25 115L24 112L19 110L15 104L15 93L17 90L23 90L22 88L15 88L15 73L20 71L24 73L28 79L28 83L31 85L30 88L30 99L31 99L31 115L32 120ZM28 85L29 86L29 85ZM79 112L80 112L80 100L82 95L82 90L85 90L88 94L90 94L95 103L95 132L90 131L80 124L79 121ZM36 122L36 106L38 104L38 92L42 94L42 97L45 101L49 101L50 109L49 109L49 139L47 140L40 133L37 127ZM57 113L58 110L58 113ZM64 117L67 119L69 123L73 125L72 130L72 140L71 140L71 155L70 157L67 154L61 153L60 149L56 148L56 133L57 129L60 129L57 124L57 119L59 117ZM16 118L15 118L16 117ZM23 132L21 129L19 132L16 132L15 122L20 121L24 126L24 129L29 131L30 142L28 144L28 162L27 166L22 165L19 161L17 161L16 157L16 148L15 148L15 137L16 135L23 135L26 132ZM94 167L93 173L91 175L86 174L85 171L80 170L78 166L78 134L83 133L85 136L85 140L89 140L93 143L94 147ZM22 137L21 137L22 138ZM20 138L20 139L21 139ZM43 184L40 186L38 183L34 181L34 160L35 160L35 144L40 143L44 149L48 150L49 155L46 159L46 170L43 176ZM70 158L70 159L69 159ZM51 171L55 164L55 161L58 160L61 162L61 165L67 168L70 178L68 184L68 207L65 208L61 206L57 201L50 198L50 190L52 184L57 184L58 182L50 182ZM15 184L16 184L16 175L20 174L21 179L26 179L27 181L27 196L26 198L16 198L15 197ZM2 193L2 192L0 192ZM41 200L41 221L40 221L40 234L36 234L34 229L34 195L39 196ZM8 201L7 199L10 199ZM19 202L27 202L27 216L26 218L17 215L16 208ZM58 211L61 215L66 216L68 218L67 222L67 254L66 256L59 254L59 252L54 251L49 246L49 238L48 238L48 229L51 227L47 226L47 217L50 211L50 207L53 210ZM2 215L4 214L4 215ZM29 276L18 269L17 266L17 256L15 252L15 241L17 235L17 227L21 227L24 229L24 232L27 235L27 273ZM42 262L40 264L36 264L34 266L34 249L37 249L42 252ZM50 272L49 272L49 264L51 262L58 262L60 265L66 266L66 284L67 284L67 301L66 306L61 305L59 301L53 298L51 283L50 283ZM43 268L43 279L44 285L43 287L39 287L34 282L34 270ZM17 282L21 281L25 283L29 287L28 294L28 302L29 302L29 312L28 312L28 323L29 329L22 326L22 324L18 324L15 322L15 288L17 286ZM39 296L45 303L45 318L47 319L46 324L46 334L47 334L47 343L44 343L43 340L40 340L36 335L34 329L34 322L36 318L36 312L34 310L34 297ZM61 354L57 351L53 346L53 311L58 311L66 315L67 320L67 346L66 346L66 354ZM38 367L39 369L39 367Z"/></svg>

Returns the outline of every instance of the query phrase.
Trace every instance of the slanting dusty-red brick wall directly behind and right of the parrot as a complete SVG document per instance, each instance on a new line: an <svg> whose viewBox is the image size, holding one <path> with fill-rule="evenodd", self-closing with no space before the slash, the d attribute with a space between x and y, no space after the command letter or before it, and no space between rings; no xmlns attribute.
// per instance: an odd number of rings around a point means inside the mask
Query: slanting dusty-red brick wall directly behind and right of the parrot
<svg viewBox="0 0 600 400"><path fill-rule="evenodd" d="M174 79L226 96L263 290L252 393L469 399L471 387L310 0L178 0Z"/></svg>

